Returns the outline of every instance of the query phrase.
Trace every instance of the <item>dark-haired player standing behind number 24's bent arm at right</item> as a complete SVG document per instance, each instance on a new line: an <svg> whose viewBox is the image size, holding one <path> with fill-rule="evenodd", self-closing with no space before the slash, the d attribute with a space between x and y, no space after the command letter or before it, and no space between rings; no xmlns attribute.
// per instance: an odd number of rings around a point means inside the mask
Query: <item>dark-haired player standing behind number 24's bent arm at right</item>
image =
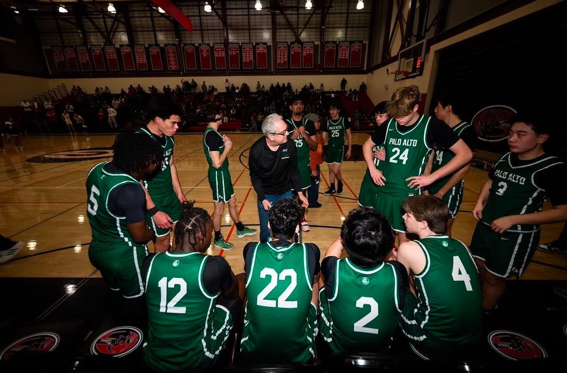
<svg viewBox="0 0 567 373"><path fill-rule="evenodd" d="M476 131L472 125L460 119L462 110L462 104L454 95L441 97L435 107L435 117L447 123L447 125L463 139L471 151L474 151L477 139ZM445 166L453 157L454 154L451 153L450 150L435 148L435 151L431 152L429 156L425 174L437 171L442 166ZM447 204L449 208L449 220L447 221L447 232L445 233L449 237L451 237L453 221L459 212L461 202L463 202L464 177L467 175L470 166L471 163L469 162L459 170L431 183L427 190L424 191L424 194L431 194L441 198L443 202Z"/></svg>

